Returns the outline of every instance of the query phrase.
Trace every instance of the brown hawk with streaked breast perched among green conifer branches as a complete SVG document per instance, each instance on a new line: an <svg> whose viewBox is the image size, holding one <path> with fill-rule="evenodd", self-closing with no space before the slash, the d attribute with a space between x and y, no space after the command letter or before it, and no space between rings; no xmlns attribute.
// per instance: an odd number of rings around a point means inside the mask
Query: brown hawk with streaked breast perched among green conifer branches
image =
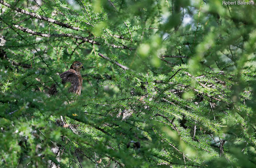
<svg viewBox="0 0 256 168"><path fill-rule="evenodd" d="M80 74L80 69L84 68L83 64L79 61L75 61L70 66L70 69L60 74L60 78L62 79L62 84L66 82L70 82L71 86L68 89L68 92L73 92L78 95L81 94L81 89L83 85L83 78ZM52 84L49 95L56 95L57 87L56 84Z"/></svg>

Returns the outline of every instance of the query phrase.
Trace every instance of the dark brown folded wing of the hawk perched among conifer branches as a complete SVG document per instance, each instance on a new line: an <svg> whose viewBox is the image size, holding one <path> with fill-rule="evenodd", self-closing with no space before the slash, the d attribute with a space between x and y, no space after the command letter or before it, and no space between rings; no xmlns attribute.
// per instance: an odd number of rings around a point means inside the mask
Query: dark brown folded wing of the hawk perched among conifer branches
<svg viewBox="0 0 256 168"><path fill-rule="evenodd" d="M69 88L69 92L76 92L77 89L79 89L79 77L76 74L76 71L74 69L69 69L66 72L63 72L60 74L60 78L62 79L62 84L65 84L66 82L70 82L71 86Z"/></svg>

